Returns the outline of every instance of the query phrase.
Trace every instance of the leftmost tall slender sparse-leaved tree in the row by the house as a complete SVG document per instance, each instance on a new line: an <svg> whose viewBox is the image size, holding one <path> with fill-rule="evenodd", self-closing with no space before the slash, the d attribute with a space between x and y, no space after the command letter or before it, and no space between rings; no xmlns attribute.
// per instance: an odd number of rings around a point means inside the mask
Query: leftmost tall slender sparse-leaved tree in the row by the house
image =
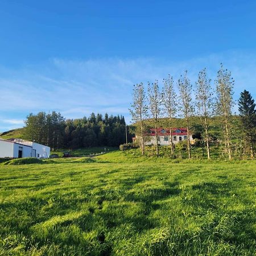
<svg viewBox="0 0 256 256"><path fill-rule="evenodd" d="M148 116L147 97L144 91L143 82L141 84L134 85L133 88L133 103L129 109L131 117L134 122L139 126L139 144L141 147L142 155L144 155L144 137L145 137L145 119Z"/></svg>

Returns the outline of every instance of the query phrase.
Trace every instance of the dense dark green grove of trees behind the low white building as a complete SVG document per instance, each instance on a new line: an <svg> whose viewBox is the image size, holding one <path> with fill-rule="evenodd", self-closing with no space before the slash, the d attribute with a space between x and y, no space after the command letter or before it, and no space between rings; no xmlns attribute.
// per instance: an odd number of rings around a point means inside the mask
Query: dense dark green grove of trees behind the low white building
<svg viewBox="0 0 256 256"><path fill-rule="evenodd" d="M65 119L60 113L39 112L27 116L24 138L58 148L119 146L126 142L126 123L121 115L90 114L88 118Z"/></svg>

